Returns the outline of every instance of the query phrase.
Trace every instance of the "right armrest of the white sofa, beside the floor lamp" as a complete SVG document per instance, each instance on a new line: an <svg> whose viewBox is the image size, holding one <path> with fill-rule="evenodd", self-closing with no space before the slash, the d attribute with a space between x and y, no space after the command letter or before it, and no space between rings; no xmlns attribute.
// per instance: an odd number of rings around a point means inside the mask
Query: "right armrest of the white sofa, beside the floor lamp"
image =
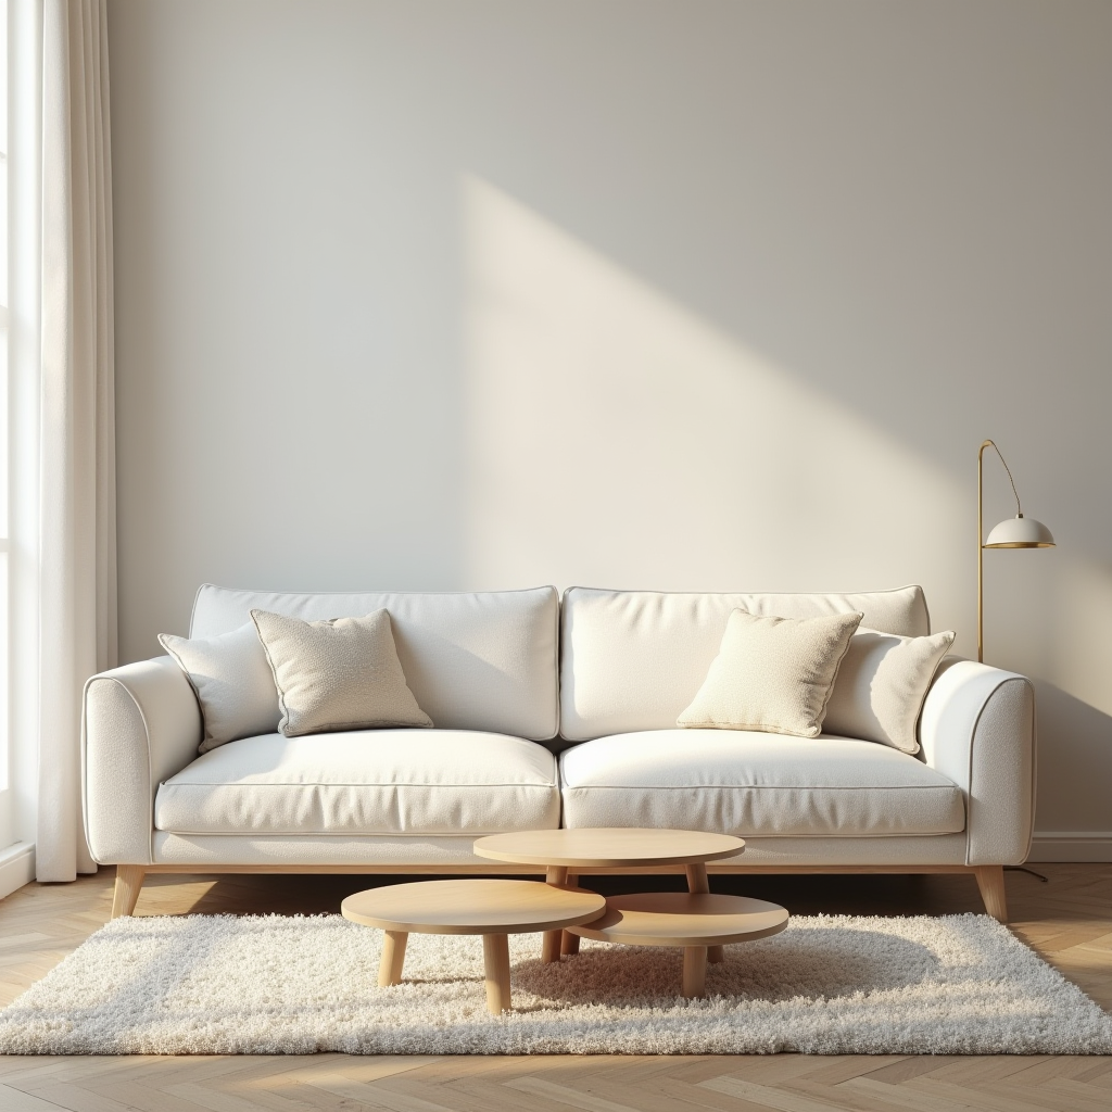
<svg viewBox="0 0 1112 1112"><path fill-rule="evenodd" d="M1031 681L947 656L923 704L920 744L926 763L965 793L965 863L1025 861L1035 798Z"/></svg>

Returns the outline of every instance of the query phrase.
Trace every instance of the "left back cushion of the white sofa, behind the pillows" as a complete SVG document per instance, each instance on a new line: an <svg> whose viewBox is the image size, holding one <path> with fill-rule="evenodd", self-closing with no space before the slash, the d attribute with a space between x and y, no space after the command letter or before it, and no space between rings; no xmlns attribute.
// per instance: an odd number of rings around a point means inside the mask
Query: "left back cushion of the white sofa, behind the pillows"
<svg viewBox="0 0 1112 1112"><path fill-rule="evenodd" d="M347 595L206 584L193 603L189 636L237 629L250 622L252 609L306 622L386 609L409 689L438 727L484 729L537 742L556 736L559 600L555 587Z"/></svg>

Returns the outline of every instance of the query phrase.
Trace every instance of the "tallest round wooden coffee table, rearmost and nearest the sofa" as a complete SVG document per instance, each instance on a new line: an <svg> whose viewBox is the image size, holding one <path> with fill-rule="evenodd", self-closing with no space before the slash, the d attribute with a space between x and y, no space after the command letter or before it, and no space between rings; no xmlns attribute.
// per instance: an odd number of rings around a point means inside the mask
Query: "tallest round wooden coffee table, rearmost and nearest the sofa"
<svg viewBox="0 0 1112 1112"><path fill-rule="evenodd" d="M745 842L731 834L673 831L636 826L578 827L576 830L519 831L476 838L479 857L522 865L544 865L550 885L573 885L580 868L636 868L649 865L684 865L687 887L693 894L711 891L706 863L733 857ZM540 960L558 962L560 954L574 954L579 937L572 932L545 935ZM722 946L711 945L712 962L723 959Z"/></svg>

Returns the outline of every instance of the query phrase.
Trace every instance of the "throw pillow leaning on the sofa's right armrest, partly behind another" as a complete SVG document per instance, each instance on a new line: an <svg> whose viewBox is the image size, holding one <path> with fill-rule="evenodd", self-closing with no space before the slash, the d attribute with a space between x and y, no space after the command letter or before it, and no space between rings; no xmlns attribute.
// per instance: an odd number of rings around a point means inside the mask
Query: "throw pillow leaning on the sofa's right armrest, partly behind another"
<svg viewBox="0 0 1112 1112"><path fill-rule="evenodd" d="M860 628L850 639L826 704L824 732L919 753L915 723L953 643L949 629L930 637L897 637Z"/></svg>

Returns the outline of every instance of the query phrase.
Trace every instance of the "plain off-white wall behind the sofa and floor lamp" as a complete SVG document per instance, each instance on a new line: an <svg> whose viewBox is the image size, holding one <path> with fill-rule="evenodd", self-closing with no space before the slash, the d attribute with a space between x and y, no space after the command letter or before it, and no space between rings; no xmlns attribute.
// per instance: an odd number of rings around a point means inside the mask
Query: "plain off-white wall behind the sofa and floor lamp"
<svg viewBox="0 0 1112 1112"><path fill-rule="evenodd" d="M205 580L920 582L972 653L992 436L1060 546L987 554L987 657L1112 851L1112 6L109 23L126 658Z"/></svg>

